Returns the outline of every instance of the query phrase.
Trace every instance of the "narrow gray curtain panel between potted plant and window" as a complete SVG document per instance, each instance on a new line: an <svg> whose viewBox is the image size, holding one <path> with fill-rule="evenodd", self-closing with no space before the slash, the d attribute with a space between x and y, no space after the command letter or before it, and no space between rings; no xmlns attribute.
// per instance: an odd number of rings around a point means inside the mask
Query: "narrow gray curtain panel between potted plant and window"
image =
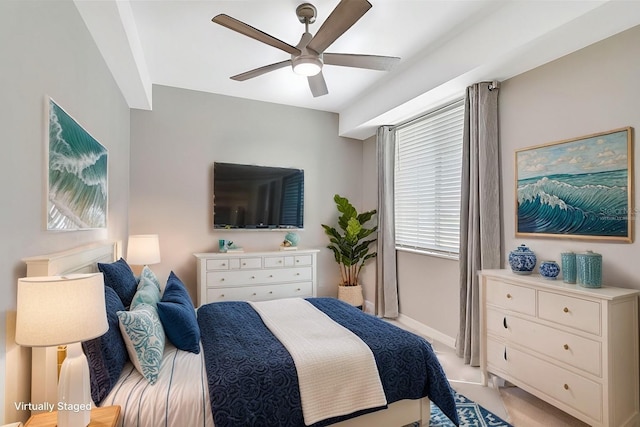
<svg viewBox="0 0 640 427"><path fill-rule="evenodd" d="M390 126L378 128L378 262L376 277L376 315L398 317L398 278L393 208L393 170L395 132Z"/></svg>

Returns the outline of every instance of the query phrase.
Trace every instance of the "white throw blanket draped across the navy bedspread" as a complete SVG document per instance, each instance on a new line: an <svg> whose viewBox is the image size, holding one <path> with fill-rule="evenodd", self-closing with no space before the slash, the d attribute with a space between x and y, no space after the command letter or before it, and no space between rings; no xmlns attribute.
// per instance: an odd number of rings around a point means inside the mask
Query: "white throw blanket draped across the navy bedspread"
<svg viewBox="0 0 640 427"><path fill-rule="evenodd" d="M304 422L387 404L371 349L302 298L250 302L291 354Z"/></svg>

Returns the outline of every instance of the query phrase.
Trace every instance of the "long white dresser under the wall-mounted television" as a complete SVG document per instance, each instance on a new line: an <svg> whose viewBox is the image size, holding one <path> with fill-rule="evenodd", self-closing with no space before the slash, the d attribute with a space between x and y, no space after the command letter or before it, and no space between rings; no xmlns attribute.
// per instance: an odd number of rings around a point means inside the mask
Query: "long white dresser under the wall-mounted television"
<svg viewBox="0 0 640 427"><path fill-rule="evenodd" d="M317 249L197 253L198 306L317 295Z"/></svg>

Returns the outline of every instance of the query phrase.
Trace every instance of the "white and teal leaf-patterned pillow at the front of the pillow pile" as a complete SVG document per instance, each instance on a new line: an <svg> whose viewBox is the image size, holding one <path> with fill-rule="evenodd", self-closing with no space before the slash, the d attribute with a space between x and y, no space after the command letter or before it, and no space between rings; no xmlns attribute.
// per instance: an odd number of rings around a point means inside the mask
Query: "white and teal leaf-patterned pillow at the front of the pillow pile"
<svg viewBox="0 0 640 427"><path fill-rule="evenodd" d="M138 372L155 384L162 365L165 335L157 310L140 303L131 311L118 311L118 320L127 353Z"/></svg>

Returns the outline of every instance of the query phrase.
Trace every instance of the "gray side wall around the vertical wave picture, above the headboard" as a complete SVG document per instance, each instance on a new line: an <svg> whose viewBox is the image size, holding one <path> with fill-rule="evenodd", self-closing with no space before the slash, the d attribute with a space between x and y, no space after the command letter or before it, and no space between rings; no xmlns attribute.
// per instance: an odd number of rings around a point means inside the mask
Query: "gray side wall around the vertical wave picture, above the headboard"
<svg viewBox="0 0 640 427"><path fill-rule="evenodd" d="M129 209L129 109L71 1L0 1L0 424L24 420L7 390L18 369L13 331L22 258L102 239L123 240ZM109 150L108 229L45 231L45 99L53 98ZM6 343L5 343L6 340ZM5 360L8 365L5 369ZM30 372L26 372L30 375ZM22 395L28 402L28 394Z"/></svg>

